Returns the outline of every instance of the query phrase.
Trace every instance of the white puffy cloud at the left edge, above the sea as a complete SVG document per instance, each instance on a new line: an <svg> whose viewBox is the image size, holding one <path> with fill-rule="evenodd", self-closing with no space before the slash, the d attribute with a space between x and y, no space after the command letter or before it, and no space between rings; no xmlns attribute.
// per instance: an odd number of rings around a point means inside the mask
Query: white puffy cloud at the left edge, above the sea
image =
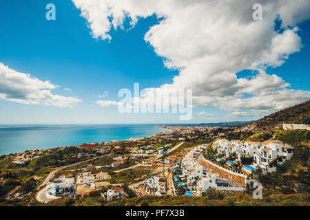
<svg viewBox="0 0 310 220"><path fill-rule="evenodd" d="M82 100L52 94L56 85L41 81L30 74L14 71L0 63L0 98L23 104L45 104L56 107L73 107Z"/></svg>

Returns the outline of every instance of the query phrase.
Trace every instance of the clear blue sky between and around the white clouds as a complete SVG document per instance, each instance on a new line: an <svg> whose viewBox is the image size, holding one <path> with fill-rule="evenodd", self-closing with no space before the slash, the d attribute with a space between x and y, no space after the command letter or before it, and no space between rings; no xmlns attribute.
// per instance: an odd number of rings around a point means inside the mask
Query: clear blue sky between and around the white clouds
<svg viewBox="0 0 310 220"><path fill-rule="evenodd" d="M45 5L56 5L56 21L45 19ZM95 39L81 17L81 10L72 1L3 0L0 6L0 63L16 72L28 73L39 80L48 80L59 87L52 94L83 100L72 108L22 104L0 99L0 124L41 123L178 123L178 114L121 114L117 107L100 107L98 100L119 100L121 88L160 87L173 83L179 69L168 69L154 46L144 39L149 29L160 23L155 15L139 19L130 28L125 19L124 29L111 30L112 40ZM302 49L293 53L279 67L268 67L267 74L276 74L290 89L310 90L310 21L298 23L297 34ZM238 78L254 76L244 70ZM1 86L1 85L0 85ZM67 91L69 88L71 91ZM107 91L107 97L98 97ZM244 97L251 97L245 95ZM188 122L222 122L255 120L260 115L233 117L227 109L196 107ZM233 109L231 109L233 110ZM211 117L197 115L206 112ZM245 111L249 109L245 108ZM272 111L272 110L271 110ZM202 114L203 115L203 114Z"/></svg>

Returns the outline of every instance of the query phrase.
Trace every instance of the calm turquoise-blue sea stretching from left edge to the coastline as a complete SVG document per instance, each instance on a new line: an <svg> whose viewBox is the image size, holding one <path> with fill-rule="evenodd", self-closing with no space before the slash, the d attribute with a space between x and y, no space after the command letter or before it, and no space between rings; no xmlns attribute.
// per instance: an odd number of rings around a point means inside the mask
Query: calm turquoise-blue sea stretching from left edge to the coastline
<svg viewBox="0 0 310 220"><path fill-rule="evenodd" d="M148 137L162 131L167 130L154 124L0 125L0 155L32 148Z"/></svg>

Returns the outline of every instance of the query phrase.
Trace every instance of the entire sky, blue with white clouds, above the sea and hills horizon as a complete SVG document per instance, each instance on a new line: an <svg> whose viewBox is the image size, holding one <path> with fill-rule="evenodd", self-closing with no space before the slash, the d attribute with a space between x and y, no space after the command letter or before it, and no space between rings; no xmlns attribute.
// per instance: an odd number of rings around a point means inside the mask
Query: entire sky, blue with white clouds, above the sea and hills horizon
<svg viewBox="0 0 310 220"><path fill-rule="evenodd" d="M55 21L45 17L48 3ZM0 124L249 121L310 99L307 1L0 5ZM193 89L192 120L119 113L118 91L134 83L163 94Z"/></svg>

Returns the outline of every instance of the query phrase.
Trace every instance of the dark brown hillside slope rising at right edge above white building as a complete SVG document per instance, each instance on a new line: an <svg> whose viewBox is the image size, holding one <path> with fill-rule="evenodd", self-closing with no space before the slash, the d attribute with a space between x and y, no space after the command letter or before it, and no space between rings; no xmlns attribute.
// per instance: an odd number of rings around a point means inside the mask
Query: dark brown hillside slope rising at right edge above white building
<svg viewBox="0 0 310 220"><path fill-rule="evenodd" d="M310 100L277 111L256 122L238 127L235 131L271 131L282 124L310 124Z"/></svg>

